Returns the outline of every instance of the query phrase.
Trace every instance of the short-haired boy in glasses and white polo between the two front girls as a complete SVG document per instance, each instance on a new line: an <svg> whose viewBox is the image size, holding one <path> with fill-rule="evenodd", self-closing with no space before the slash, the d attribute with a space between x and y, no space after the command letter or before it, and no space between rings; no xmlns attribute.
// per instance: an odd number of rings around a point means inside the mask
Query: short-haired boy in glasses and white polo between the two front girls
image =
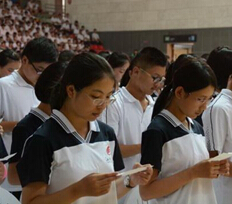
<svg viewBox="0 0 232 204"><path fill-rule="evenodd" d="M116 101L100 117L116 133L125 170L140 162L141 136L151 121L154 106L150 95L163 81L166 63L166 57L160 50L144 48L123 76L123 84L124 79L129 77L128 83L114 94Z"/></svg>

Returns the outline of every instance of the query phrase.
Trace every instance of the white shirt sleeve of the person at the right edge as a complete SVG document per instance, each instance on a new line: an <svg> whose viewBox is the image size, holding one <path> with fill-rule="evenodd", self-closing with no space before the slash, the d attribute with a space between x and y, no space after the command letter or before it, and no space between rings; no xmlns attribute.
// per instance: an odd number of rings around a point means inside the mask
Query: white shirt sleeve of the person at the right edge
<svg viewBox="0 0 232 204"><path fill-rule="evenodd" d="M208 150L223 152L228 136L228 116L220 106L209 107L202 116Z"/></svg>

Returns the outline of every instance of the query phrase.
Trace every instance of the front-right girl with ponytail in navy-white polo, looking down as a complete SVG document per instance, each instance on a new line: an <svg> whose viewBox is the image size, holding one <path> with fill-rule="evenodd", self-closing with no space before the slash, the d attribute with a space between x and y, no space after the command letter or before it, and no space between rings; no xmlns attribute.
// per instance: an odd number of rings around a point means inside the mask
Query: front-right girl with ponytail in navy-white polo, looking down
<svg viewBox="0 0 232 204"><path fill-rule="evenodd" d="M140 194L150 203L216 204L212 180L229 175L227 160L210 162L203 128L194 118L211 100L216 77L204 62L186 58L158 97L154 118L142 136L141 163L154 165Z"/></svg>

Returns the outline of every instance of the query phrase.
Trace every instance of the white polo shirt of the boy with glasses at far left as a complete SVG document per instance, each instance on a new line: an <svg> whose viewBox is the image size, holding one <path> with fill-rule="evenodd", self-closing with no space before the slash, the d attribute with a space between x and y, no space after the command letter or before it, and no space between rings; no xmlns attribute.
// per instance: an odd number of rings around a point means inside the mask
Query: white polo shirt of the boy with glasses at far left
<svg viewBox="0 0 232 204"><path fill-rule="evenodd" d="M17 71L0 79L0 116L3 121L20 121L30 112L32 107L38 106L34 87L28 84ZM10 153L12 132L2 136L7 153ZM20 190L17 186L9 185L7 179L1 185L9 191Z"/></svg>

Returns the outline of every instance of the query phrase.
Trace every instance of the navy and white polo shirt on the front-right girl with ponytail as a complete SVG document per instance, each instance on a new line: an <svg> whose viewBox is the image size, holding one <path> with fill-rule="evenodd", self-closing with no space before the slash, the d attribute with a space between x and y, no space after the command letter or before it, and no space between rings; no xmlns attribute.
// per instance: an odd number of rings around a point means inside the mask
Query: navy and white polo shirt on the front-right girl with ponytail
<svg viewBox="0 0 232 204"><path fill-rule="evenodd" d="M188 118L190 130L168 110L161 111L142 136L142 164L150 163L167 178L209 158L202 127ZM211 179L198 178L177 191L151 200L159 204L216 204Z"/></svg>

